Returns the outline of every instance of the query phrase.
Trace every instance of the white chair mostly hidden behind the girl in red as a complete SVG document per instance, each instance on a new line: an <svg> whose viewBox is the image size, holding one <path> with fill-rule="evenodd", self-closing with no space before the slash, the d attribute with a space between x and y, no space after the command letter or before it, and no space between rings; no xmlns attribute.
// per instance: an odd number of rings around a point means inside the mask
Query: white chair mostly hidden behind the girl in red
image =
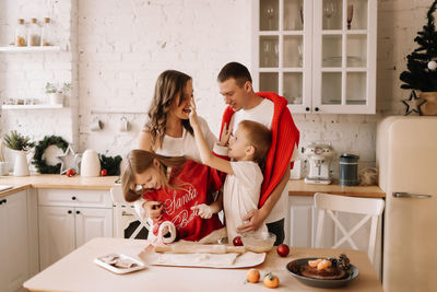
<svg viewBox="0 0 437 292"><path fill-rule="evenodd" d="M113 197L114 205L114 225L116 226L116 237L125 237L125 229L127 229L131 222L137 220L140 221L140 224L129 236L129 238L135 238L143 227L147 229L149 231L152 230L151 222L149 222L146 219L143 219L141 215L141 205L127 202L120 187L111 188L110 196ZM151 232L149 232L149 234L151 234Z"/></svg>

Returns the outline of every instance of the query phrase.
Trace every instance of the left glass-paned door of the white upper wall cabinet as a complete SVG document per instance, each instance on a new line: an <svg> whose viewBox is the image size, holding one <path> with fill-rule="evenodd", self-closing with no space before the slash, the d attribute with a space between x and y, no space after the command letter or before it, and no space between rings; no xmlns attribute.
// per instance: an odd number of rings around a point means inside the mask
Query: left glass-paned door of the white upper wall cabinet
<svg viewBox="0 0 437 292"><path fill-rule="evenodd" d="M253 85L284 96L294 113L311 106L311 5L304 0L259 0L255 9L259 22Z"/></svg>

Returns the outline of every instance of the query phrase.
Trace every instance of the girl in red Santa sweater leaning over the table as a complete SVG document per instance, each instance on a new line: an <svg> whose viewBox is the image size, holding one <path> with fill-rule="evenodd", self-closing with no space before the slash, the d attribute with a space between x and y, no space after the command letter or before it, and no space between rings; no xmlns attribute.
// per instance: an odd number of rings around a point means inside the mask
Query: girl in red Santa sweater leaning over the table
<svg viewBox="0 0 437 292"><path fill-rule="evenodd" d="M184 157L166 157L144 150L132 150L122 165L121 186L128 202L143 198L154 234L162 222L176 226L177 240L199 241L223 225L216 214L209 219L197 209L211 203L214 212L220 203L212 195L222 186L215 170ZM200 206L200 207L199 207ZM203 214L203 212L202 212ZM204 215L202 215L204 217Z"/></svg>

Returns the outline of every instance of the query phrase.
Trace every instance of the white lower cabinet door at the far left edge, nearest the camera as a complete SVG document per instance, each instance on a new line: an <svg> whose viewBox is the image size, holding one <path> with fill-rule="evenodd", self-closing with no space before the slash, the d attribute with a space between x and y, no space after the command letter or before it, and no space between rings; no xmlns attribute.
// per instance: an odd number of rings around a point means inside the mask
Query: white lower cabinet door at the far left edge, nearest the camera
<svg viewBox="0 0 437 292"><path fill-rule="evenodd" d="M29 277L26 190L0 199L0 291L21 291Z"/></svg>

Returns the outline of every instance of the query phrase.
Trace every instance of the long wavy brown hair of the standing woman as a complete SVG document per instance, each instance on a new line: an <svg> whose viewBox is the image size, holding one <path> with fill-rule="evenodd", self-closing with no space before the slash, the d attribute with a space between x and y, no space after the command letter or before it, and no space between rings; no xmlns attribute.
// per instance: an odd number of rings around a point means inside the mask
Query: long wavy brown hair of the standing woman
<svg viewBox="0 0 437 292"><path fill-rule="evenodd" d="M144 126L144 130L151 133L154 150L161 148L163 144L167 114L173 103L178 103L178 106L182 104L184 92L188 81L191 81L191 77L176 70L166 70L156 80L155 93L147 113L149 121ZM177 101L178 96L179 101ZM181 122L182 127L189 133L193 135L190 121L184 119Z"/></svg>

